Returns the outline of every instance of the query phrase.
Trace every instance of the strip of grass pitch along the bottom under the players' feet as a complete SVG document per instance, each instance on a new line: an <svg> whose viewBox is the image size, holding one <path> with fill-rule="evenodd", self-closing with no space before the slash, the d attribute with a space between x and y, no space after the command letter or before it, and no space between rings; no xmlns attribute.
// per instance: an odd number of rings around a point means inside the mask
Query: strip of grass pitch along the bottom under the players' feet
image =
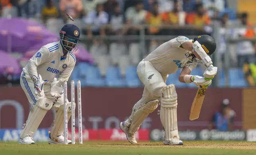
<svg viewBox="0 0 256 155"><path fill-rule="evenodd" d="M256 142L187 141L183 146L162 142L83 142L75 145L1 142L0 155L256 155Z"/></svg>

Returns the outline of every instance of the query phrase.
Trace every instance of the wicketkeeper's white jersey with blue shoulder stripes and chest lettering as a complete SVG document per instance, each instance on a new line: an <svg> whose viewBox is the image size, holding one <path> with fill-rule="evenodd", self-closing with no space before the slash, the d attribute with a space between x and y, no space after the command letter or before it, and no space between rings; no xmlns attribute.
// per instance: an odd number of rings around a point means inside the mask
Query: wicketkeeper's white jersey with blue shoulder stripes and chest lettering
<svg viewBox="0 0 256 155"><path fill-rule="evenodd" d="M42 46L29 60L23 71L30 77L40 74L43 80L51 81L58 75L58 78L68 81L75 64L76 57L72 52L68 52L65 57L63 56L59 41Z"/></svg>

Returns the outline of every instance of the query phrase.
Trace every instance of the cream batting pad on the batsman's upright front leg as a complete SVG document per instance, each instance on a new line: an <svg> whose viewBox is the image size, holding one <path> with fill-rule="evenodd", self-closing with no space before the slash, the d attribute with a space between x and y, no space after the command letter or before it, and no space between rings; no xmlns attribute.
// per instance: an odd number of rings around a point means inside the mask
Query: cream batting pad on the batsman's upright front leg
<svg viewBox="0 0 256 155"><path fill-rule="evenodd" d="M165 141L170 142L178 136L177 93L175 85L168 85L162 90L160 119L165 129Z"/></svg>

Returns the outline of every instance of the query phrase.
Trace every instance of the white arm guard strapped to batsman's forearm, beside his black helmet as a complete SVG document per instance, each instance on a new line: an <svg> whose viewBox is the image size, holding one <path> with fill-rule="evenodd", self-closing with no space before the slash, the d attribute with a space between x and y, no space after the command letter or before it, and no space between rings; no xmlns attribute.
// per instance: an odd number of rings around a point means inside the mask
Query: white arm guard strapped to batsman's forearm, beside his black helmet
<svg viewBox="0 0 256 155"><path fill-rule="evenodd" d="M207 51L205 51L202 47L202 45L196 41L193 43L193 50L201 57L201 61L206 65L206 66L210 66L212 64L211 58L209 57L209 55L207 55ZM209 51L208 51L209 53Z"/></svg>

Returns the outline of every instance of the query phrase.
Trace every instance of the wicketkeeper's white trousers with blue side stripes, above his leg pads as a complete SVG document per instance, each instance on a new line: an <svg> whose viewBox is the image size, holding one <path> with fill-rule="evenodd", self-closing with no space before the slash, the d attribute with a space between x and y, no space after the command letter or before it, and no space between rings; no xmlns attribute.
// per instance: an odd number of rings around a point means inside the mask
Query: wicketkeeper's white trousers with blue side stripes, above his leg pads
<svg viewBox="0 0 256 155"><path fill-rule="evenodd" d="M31 104L36 104L37 100L40 98L48 98L49 100L52 100L52 102L55 101L55 97L52 97L50 94L50 84L45 83L43 86L43 90L41 92L42 96L37 96L35 95L35 88L34 88L34 83L32 79L29 77L28 74L25 74L24 71L21 72L20 76L20 85L24 91L24 93L27 96L27 99L29 100L29 103ZM61 98L58 98L56 101L54 108L59 108L62 104L64 104L64 95L62 94Z"/></svg>

